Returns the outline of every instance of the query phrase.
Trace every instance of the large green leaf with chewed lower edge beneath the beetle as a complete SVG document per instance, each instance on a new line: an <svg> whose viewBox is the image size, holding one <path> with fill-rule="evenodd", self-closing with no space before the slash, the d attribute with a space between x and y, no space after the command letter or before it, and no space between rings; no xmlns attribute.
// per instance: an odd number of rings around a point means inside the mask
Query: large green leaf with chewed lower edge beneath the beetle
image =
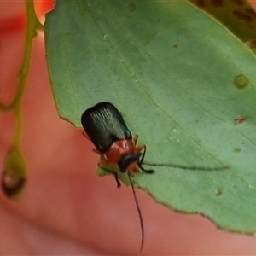
<svg viewBox="0 0 256 256"><path fill-rule="evenodd" d="M80 126L113 102L146 161L230 166L156 167L134 183L224 230L256 227L256 61L224 26L183 1L57 1L47 15L49 75L62 119ZM73 145L75 147L75 145ZM146 167L146 166L145 166Z"/></svg>

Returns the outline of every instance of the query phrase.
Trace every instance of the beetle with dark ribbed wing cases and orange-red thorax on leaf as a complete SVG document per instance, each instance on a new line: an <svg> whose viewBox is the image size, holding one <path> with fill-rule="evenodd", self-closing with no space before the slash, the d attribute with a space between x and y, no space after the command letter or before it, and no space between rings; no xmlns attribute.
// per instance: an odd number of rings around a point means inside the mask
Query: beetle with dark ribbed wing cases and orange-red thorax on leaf
<svg viewBox="0 0 256 256"><path fill-rule="evenodd" d="M137 135L132 137L119 110L110 102L100 102L84 111L81 117L84 131L95 145L97 154L103 156L98 166L118 166L120 172L128 172L131 177L143 168L146 145L137 147ZM119 187L119 183L118 183Z"/></svg>

